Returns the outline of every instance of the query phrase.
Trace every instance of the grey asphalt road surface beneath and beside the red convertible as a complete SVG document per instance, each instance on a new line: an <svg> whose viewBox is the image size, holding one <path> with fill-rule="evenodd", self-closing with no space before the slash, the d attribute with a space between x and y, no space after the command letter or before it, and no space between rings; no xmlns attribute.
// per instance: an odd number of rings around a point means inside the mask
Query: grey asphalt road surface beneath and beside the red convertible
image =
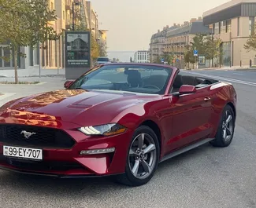
<svg viewBox="0 0 256 208"><path fill-rule="evenodd" d="M206 144L165 161L150 183L139 188L106 179L55 180L0 171L0 207L256 207L256 72L192 72L233 80L238 93L237 122L228 148ZM58 86L48 82L33 91L24 86L23 91L35 93L48 90L46 86L56 89L63 80L58 80ZM10 86L1 86L1 90L3 87L6 93L13 93Z"/></svg>

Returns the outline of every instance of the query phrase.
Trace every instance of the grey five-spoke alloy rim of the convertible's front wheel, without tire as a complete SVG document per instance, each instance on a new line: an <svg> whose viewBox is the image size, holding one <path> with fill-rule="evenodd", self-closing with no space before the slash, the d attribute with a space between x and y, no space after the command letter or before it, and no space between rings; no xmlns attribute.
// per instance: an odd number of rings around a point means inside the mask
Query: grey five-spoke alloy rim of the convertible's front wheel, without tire
<svg viewBox="0 0 256 208"><path fill-rule="evenodd" d="M128 164L134 177L145 179L150 176L157 162L157 150L153 137L139 133L129 149Z"/></svg>

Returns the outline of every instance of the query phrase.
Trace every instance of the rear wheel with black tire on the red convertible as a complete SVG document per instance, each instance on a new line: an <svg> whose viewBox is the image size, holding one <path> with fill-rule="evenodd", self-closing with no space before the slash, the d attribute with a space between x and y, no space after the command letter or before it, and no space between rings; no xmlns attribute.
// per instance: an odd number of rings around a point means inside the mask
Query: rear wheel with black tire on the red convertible
<svg viewBox="0 0 256 208"><path fill-rule="evenodd" d="M228 147L233 139L235 130L235 113L230 105L226 105L222 111L215 139L210 142L213 147Z"/></svg>

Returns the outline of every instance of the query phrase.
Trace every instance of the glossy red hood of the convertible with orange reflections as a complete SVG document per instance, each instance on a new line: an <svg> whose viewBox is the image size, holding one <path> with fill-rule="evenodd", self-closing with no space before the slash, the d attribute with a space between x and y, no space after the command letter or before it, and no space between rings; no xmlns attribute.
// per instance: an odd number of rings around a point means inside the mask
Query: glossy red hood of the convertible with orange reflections
<svg viewBox="0 0 256 208"><path fill-rule="evenodd" d="M154 97L109 90L60 89L10 101L0 108L0 122L4 118L37 118L101 125L111 122L124 109Z"/></svg>

